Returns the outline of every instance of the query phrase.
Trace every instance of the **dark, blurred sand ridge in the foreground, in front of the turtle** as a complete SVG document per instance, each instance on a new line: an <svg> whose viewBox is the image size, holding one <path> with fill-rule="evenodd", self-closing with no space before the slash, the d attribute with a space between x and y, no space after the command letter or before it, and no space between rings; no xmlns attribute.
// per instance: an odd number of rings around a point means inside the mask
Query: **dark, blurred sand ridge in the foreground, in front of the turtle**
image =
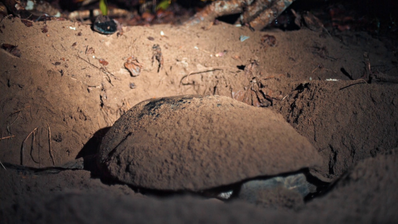
<svg viewBox="0 0 398 224"><path fill-rule="evenodd" d="M390 223L398 220L398 149L359 162L323 198L298 212L196 198L45 193L0 210L5 223Z"/></svg>

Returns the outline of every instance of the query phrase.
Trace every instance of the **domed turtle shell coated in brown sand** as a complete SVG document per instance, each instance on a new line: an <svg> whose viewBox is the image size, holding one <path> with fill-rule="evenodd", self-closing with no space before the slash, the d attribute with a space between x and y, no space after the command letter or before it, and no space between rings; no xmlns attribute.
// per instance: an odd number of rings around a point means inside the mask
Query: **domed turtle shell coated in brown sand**
<svg viewBox="0 0 398 224"><path fill-rule="evenodd" d="M120 181L173 191L211 189L322 161L280 114L203 95L133 106L103 138L98 159Z"/></svg>

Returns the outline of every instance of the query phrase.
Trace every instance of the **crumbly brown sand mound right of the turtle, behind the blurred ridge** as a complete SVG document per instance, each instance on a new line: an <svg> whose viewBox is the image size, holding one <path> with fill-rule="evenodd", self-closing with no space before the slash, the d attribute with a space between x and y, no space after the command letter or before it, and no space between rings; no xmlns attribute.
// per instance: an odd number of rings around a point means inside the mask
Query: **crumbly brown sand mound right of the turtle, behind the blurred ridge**
<svg viewBox="0 0 398 224"><path fill-rule="evenodd" d="M356 161L398 147L397 109L397 85L314 81L280 112L324 157L318 172L335 179Z"/></svg>

